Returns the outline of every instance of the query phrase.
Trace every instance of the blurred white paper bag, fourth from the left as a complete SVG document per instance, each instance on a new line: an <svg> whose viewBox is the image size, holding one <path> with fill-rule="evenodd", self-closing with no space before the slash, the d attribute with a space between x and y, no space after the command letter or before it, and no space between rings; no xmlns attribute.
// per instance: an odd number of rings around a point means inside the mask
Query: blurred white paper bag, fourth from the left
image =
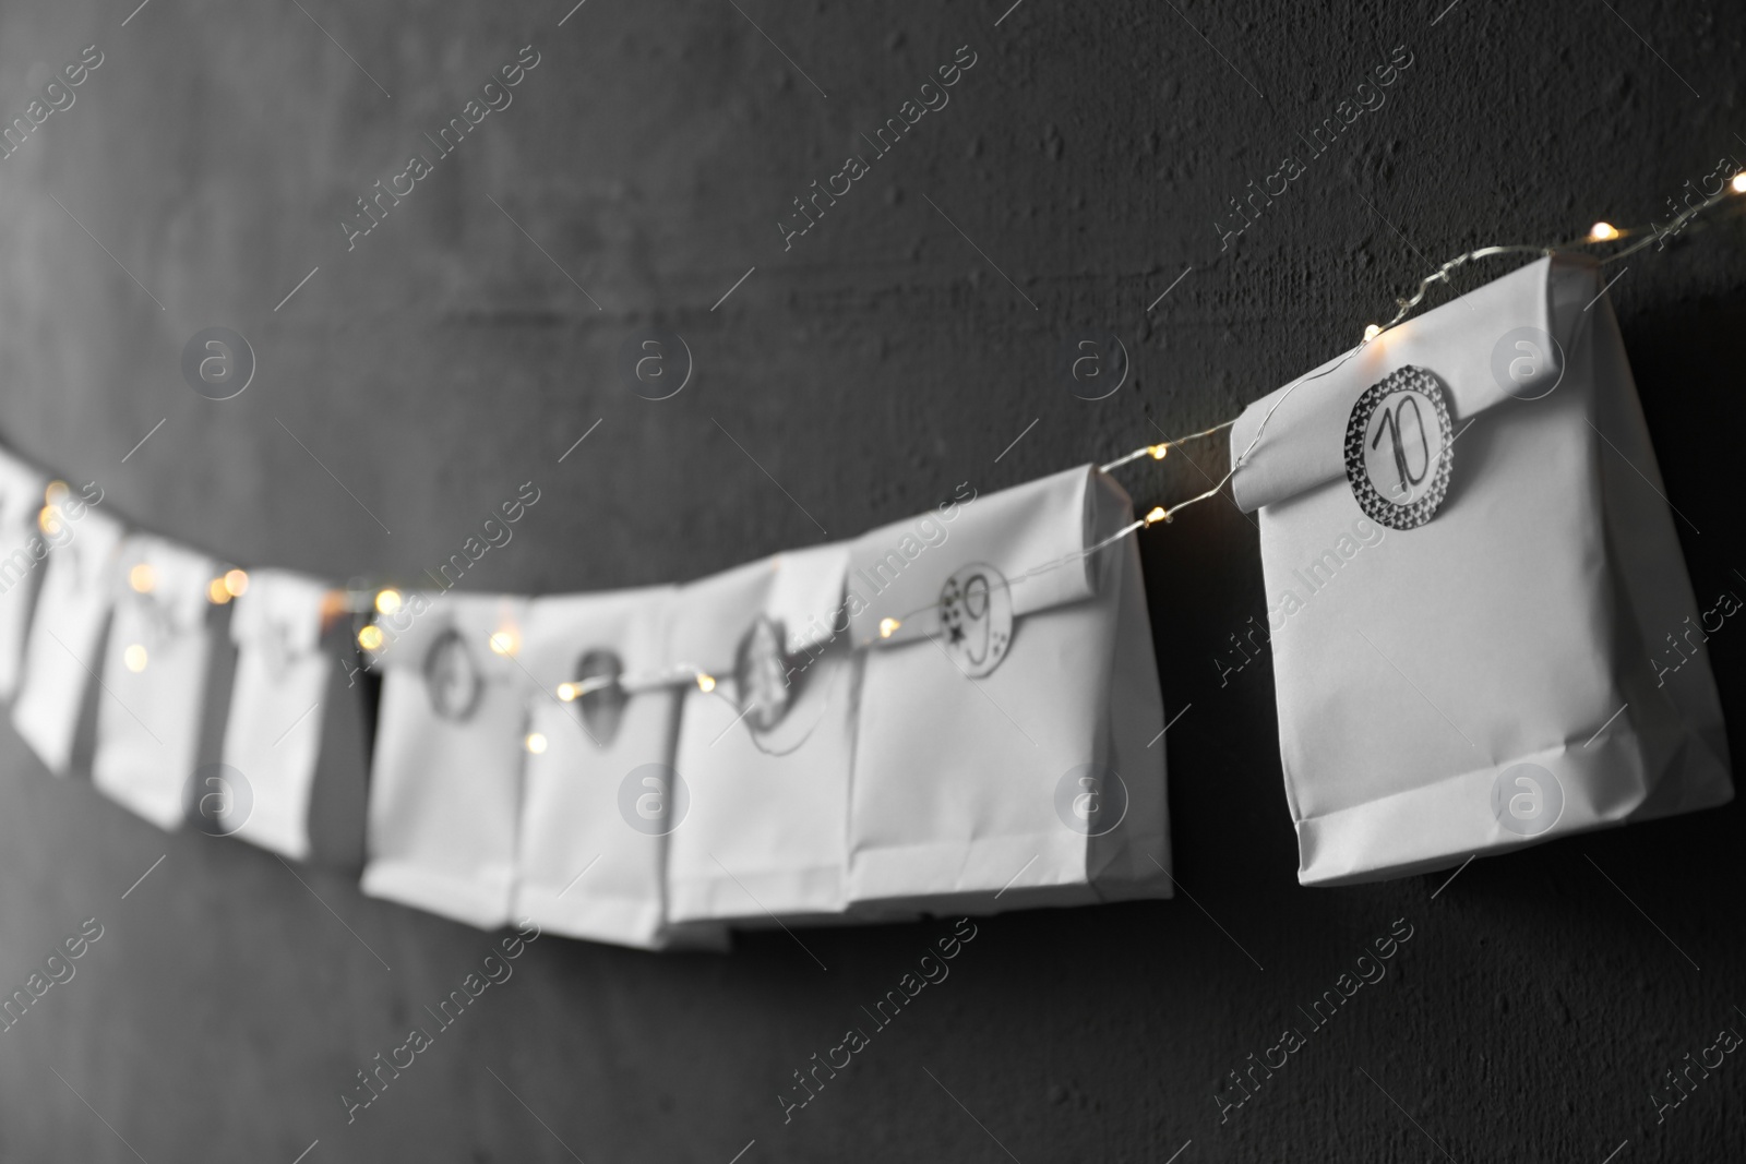
<svg viewBox="0 0 1746 1164"><path fill-rule="evenodd" d="M241 820L215 822L225 834L306 860L309 798L321 754L321 707L333 682L321 649L327 583L260 569L230 609L236 679L223 731L223 763L241 773L248 803Z"/></svg>

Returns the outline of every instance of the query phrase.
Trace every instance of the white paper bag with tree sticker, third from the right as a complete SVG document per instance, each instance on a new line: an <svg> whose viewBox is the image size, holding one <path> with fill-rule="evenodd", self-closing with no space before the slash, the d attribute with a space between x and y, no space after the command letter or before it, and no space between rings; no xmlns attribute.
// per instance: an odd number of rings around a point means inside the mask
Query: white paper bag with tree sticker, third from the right
<svg viewBox="0 0 1746 1164"><path fill-rule="evenodd" d="M676 920L740 927L843 914L856 653L849 546L782 553L683 586L667 653L688 684L676 768L690 811L672 834Z"/></svg>

